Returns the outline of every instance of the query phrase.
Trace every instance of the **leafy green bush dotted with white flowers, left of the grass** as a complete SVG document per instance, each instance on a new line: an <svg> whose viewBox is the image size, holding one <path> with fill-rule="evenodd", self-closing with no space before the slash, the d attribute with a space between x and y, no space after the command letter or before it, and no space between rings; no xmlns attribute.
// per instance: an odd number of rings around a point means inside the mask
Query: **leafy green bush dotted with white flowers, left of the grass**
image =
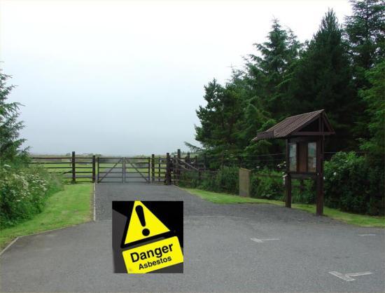
<svg viewBox="0 0 385 293"><path fill-rule="evenodd" d="M0 229L31 219L61 189L61 180L43 168L0 166Z"/></svg>

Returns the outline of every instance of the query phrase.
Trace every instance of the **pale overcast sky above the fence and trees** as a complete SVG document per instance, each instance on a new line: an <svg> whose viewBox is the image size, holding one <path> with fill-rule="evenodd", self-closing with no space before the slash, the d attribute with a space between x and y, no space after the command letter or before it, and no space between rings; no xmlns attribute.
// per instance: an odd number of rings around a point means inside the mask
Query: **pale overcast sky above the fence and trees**
<svg viewBox="0 0 385 293"><path fill-rule="evenodd" d="M204 85L265 41L311 39L348 1L3 1L0 61L35 154L164 154L196 143Z"/></svg>

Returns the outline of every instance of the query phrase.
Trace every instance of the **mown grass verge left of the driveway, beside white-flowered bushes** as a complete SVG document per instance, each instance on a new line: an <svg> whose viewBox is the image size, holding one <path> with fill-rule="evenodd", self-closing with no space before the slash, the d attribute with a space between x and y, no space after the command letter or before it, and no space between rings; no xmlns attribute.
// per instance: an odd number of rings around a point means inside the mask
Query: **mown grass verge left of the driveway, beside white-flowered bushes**
<svg viewBox="0 0 385 293"><path fill-rule="evenodd" d="M92 219L92 184L66 184L33 219L0 230L0 250L18 236L59 229Z"/></svg>

